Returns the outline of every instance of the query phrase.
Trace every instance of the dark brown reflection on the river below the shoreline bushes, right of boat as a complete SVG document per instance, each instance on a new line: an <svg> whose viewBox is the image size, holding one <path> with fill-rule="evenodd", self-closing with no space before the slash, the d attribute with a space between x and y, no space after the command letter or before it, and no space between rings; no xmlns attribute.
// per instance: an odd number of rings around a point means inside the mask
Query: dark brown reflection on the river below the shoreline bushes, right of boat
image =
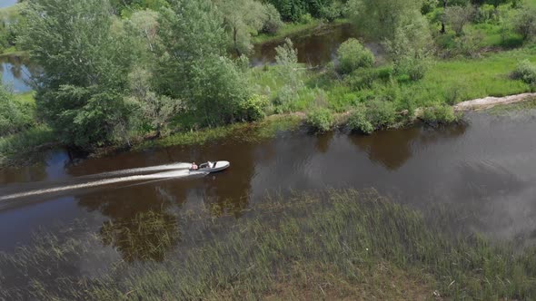
<svg viewBox="0 0 536 301"><path fill-rule="evenodd" d="M366 152L369 159L382 164L387 170L400 169L413 155L412 144L419 141L423 145L455 138L465 133L466 125L457 124L443 129L427 131L419 127L397 131L378 131L370 136L351 137L351 141L360 150Z"/></svg>

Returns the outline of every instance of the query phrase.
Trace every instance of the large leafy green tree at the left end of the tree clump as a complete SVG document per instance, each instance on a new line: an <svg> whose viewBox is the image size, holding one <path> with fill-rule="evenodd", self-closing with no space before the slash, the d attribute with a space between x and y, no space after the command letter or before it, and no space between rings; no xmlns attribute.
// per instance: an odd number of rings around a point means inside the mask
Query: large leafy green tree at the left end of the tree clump
<svg viewBox="0 0 536 301"><path fill-rule="evenodd" d="M67 145L90 148L125 137L132 47L113 31L106 0L29 0L20 41L35 75L38 112ZM121 131L121 132L118 132Z"/></svg>

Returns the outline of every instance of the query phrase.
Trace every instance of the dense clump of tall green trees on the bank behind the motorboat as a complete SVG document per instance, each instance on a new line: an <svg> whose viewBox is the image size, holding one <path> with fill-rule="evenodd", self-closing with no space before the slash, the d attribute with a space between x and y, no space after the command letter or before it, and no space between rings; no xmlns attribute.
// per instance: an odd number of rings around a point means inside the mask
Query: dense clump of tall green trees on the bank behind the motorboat
<svg viewBox="0 0 536 301"><path fill-rule="evenodd" d="M80 148L129 142L143 131L160 134L176 116L199 126L249 119L249 63L229 54L248 53L253 31L280 25L272 5L130 4L157 9L121 18L108 0L28 1L20 42L43 68L37 111L60 141Z"/></svg>

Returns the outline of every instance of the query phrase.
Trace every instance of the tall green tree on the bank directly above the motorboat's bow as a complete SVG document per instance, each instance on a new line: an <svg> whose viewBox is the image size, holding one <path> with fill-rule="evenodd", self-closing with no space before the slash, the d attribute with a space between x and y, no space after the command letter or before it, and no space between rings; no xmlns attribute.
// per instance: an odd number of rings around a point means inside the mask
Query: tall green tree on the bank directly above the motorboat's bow
<svg viewBox="0 0 536 301"><path fill-rule="evenodd" d="M241 68L225 56L227 35L209 0L174 1L160 18L159 91L182 99L203 125L238 118L250 95Z"/></svg>

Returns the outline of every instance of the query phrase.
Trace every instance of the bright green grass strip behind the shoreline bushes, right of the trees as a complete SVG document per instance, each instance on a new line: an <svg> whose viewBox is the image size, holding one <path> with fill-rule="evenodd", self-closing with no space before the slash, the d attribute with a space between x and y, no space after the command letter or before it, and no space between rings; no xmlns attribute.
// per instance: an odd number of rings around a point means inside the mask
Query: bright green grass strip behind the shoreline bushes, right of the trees
<svg viewBox="0 0 536 301"><path fill-rule="evenodd" d="M352 111L359 103L374 100L393 102L400 112L421 107L453 105L486 96L506 96L531 92L529 84L511 78L511 72L522 60L536 62L534 48L521 48L500 53L485 53L480 58L437 59L420 81L395 76L389 65L362 70L341 77L326 67L303 73L303 89L293 101L273 112L307 112L324 106L333 112ZM251 81L257 92L274 103L285 83L278 76L277 66L256 68Z"/></svg>

